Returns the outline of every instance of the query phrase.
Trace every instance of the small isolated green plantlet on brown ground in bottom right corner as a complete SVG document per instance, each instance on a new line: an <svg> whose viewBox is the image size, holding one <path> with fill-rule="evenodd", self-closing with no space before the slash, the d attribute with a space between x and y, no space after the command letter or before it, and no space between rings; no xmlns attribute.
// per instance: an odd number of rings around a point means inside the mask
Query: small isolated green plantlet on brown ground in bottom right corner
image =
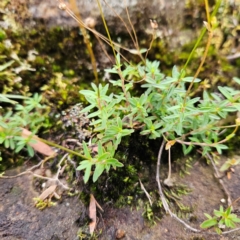
<svg viewBox="0 0 240 240"><path fill-rule="evenodd" d="M219 211L214 210L214 216L210 216L207 213L204 213L204 215L208 218L205 220L200 227L201 228L211 228L214 227L215 231L218 234L222 233L222 229L224 228L236 228L235 223L240 223L240 218L237 217L236 214L231 213L232 207L228 207L225 211L222 206L220 206Z"/></svg>

